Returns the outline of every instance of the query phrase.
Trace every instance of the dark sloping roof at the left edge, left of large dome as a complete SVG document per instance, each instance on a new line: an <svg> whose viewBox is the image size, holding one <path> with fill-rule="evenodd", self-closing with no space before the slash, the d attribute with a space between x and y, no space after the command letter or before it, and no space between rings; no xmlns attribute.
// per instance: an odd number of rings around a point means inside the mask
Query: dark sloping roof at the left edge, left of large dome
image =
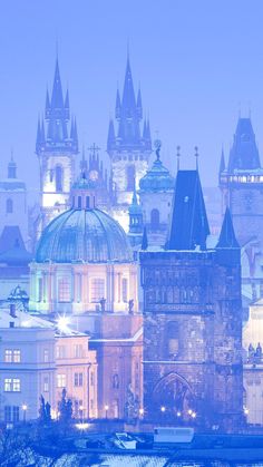
<svg viewBox="0 0 263 467"><path fill-rule="evenodd" d="M0 263L28 264L32 259L26 250L22 235L18 225L3 227L0 236Z"/></svg>

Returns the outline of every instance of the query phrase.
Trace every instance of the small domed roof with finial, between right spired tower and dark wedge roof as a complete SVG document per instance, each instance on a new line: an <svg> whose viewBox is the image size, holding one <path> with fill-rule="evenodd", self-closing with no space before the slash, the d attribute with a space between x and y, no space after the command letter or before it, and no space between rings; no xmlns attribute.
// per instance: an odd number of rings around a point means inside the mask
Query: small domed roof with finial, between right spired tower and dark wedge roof
<svg viewBox="0 0 263 467"><path fill-rule="evenodd" d="M175 179L159 159L159 148L156 160L146 175L139 181L140 192L169 192L174 189Z"/></svg>

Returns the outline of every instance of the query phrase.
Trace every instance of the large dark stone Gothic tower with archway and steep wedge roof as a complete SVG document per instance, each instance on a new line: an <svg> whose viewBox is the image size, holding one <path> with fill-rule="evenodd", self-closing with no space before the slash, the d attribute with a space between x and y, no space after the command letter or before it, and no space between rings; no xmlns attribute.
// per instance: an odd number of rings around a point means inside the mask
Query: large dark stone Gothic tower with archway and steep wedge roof
<svg viewBox="0 0 263 467"><path fill-rule="evenodd" d="M167 250L140 252L144 409L158 424L243 421L240 246L230 211L210 234L197 171L179 171Z"/></svg>

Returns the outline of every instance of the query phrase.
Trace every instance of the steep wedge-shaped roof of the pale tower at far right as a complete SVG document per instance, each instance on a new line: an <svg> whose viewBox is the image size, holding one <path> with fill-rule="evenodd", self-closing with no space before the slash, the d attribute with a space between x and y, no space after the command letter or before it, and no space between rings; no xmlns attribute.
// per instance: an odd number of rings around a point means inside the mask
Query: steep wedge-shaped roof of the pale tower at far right
<svg viewBox="0 0 263 467"><path fill-rule="evenodd" d="M230 152L228 172L261 168L260 154L250 118L238 118L233 146Z"/></svg>

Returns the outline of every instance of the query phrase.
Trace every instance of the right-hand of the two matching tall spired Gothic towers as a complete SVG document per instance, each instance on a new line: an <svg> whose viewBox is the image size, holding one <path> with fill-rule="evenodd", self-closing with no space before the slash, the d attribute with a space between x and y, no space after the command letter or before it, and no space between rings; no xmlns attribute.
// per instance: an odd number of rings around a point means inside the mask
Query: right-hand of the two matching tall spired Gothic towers
<svg viewBox="0 0 263 467"><path fill-rule="evenodd" d="M118 129L115 134L114 121L108 129L107 152L111 164L111 184L115 206L114 217L128 231L128 206L134 188L138 189L139 179L146 174L152 153L152 139L148 120L143 119L142 94L135 98L129 57L127 58L123 99L117 90L115 117Z"/></svg>

